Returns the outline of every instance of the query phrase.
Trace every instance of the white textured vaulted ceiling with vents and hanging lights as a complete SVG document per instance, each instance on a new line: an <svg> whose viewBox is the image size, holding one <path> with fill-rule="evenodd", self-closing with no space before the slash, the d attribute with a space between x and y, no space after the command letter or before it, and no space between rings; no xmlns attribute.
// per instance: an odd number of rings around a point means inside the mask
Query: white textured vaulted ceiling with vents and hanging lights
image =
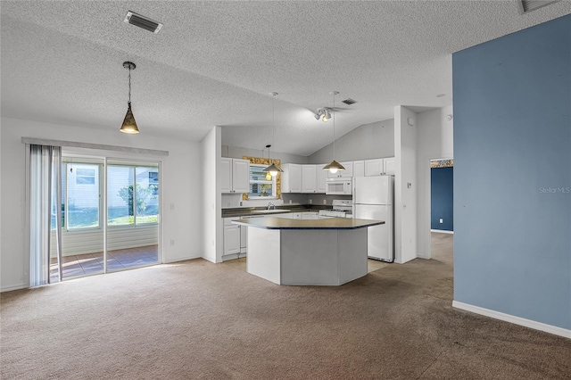
<svg viewBox="0 0 571 380"><path fill-rule="evenodd" d="M164 24L153 34L127 11ZM2 115L309 155L393 118L395 105L451 105L451 54L571 13L561 1L520 15L509 1L2 1ZM444 94L443 97L436 97ZM340 101L351 97L358 103ZM343 106L343 107L342 107ZM119 133L119 132L118 132ZM133 136L137 138L137 136Z"/></svg>

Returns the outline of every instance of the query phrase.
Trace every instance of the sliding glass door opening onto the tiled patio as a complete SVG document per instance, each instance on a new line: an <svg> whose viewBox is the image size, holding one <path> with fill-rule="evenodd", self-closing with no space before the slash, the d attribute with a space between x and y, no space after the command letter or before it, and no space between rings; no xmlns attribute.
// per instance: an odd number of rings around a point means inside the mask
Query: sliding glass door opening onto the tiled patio
<svg viewBox="0 0 571 380"><path fill-rule="evenodd" d="M51 250L50 282L160 262L159 167L62 155L62 249L60 260Z"/></svg>

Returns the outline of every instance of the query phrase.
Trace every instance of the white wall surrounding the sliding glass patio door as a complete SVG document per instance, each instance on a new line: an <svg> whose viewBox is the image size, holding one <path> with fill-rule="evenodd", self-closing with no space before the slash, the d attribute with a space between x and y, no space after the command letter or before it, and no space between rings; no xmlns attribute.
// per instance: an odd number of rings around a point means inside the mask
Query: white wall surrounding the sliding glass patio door
<svg viewBox="0 0 571 380"><path fill-rule="evenodd" d="M201 199L201 187L196 178L200 178L203 164L198 143L150 136L145 134L145 130L140 135L133 136L123 135L116 128L80 128L2 118L0 290L29 285L29 253L24 248L26 168L22 136L169 151L167 157L153 157L153 161L161 161L162 260L171 262L201 256L202 219L200 213L196 212L196 200ZM109 154L117 158L149 160L149 157L136 154ZM10 180L7 181L6 178ZM171 240L174 245L170 245Z"/></svg>

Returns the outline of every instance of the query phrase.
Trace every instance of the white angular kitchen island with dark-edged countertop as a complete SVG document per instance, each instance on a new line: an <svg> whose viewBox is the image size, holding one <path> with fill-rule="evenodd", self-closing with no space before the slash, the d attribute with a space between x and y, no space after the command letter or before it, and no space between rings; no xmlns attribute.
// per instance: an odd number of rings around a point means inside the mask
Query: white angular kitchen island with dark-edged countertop
<svg viewBox="0 0 571 380"><path fill-rule="evenodd" d="M277 285L343 285L367 275L368 219L252 218L248 227L248 273Z"/></svg>

